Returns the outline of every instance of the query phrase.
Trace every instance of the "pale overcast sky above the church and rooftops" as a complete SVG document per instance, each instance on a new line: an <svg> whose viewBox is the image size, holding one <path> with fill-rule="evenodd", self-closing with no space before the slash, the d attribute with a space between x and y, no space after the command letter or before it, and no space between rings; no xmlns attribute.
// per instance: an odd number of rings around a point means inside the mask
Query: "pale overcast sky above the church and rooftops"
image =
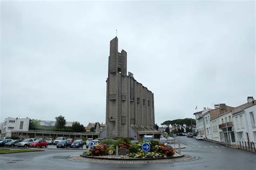
<svg viewBox="0 0 256 170"><path fill-rule="evenodd" d="M160 124L255 95L255 2L1 3L1 118L105 123L109 41Z"/></svg>

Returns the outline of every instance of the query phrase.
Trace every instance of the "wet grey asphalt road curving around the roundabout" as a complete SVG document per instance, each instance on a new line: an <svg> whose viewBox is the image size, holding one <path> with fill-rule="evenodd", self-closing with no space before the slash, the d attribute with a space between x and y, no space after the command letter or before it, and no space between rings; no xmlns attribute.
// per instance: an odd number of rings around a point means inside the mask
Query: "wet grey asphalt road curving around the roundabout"
<svg viewBox="0 0 256 170"><path fill-rule="evenodd" d="M0 155L0 169L256 169L256 154L208 141L177 137L187 148L182 153L196 155L197 160L169 164L100 164L69 160L82 150L48 150L44 152Z"/></svg>

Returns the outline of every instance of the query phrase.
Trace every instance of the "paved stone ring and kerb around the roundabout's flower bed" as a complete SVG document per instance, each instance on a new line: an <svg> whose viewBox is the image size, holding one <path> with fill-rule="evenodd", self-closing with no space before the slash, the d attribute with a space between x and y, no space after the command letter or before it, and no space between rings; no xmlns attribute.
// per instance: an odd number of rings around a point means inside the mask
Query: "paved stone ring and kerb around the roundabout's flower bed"
<svg viewBox="0 0 256 170"><path fill-rule="evenodd" d="M82 162L97 162L105 164L159 164L170 162L181 162L197 159L194 155L175 154L166 158L130 158L127 156L89 156L89 155L71 155L70 160Z"/></svg>

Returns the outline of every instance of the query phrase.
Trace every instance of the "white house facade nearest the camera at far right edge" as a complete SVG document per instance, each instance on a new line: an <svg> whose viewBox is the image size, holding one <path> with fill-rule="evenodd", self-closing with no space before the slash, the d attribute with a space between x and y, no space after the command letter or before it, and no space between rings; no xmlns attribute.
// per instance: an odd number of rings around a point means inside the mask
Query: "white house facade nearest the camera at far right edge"
<svg viewBox="0 0 256 170"><path fill-rule="evenodd" d="M256 105L252 105L233 115L234 130L237 141L256 143Z"/></svg>

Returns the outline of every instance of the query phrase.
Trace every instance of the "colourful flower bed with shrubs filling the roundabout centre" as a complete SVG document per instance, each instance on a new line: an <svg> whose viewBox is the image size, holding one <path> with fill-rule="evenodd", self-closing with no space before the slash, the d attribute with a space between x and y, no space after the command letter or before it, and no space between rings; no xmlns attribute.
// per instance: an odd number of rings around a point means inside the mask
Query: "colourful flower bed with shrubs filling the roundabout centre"
<svg viewBox="0 0 256 170"><path fill-rule="evenodd" d="M89 149L89 152L83 153L84 155L93 156L105 156L113 155L116 153L116 146L127 150L129 153L126 155L130 158L167 158L172 157L176 152L173 148L167 148L164 144L159 144L158 141L149 141L151 146L149 152L142 150L143 141L137 144L131 144L130 140L118 139L118 140L103 140L100 144L95 144L93 150Z"/></svg>

